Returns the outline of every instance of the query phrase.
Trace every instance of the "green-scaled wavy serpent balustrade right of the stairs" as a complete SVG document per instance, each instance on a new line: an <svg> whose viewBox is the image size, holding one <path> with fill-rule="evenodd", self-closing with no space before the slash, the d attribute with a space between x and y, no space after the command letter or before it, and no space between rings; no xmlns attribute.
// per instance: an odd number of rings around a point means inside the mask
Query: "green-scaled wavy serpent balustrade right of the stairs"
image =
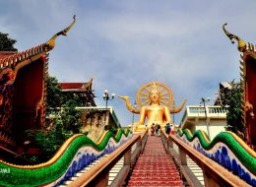
<svg viewBox="0 0 256 187"><path fill-rule="evenodd" d="M210 141L204 131L199 130L192 134L188 129L178 129L176 136L248 184L256 186L256 153L234 133L221 132Z"/></svg>

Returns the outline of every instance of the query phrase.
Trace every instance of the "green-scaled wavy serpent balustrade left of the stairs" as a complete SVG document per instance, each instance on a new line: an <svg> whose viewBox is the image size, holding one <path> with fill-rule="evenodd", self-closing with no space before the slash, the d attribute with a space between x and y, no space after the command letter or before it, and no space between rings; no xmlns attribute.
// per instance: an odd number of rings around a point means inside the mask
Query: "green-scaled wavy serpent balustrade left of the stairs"
<svg viewBox="0 0 256 187"><path fill-rule="evenodd" d="M78 134L69 138L47 162L16 165L0 160L0 186L60 185L98 157L111 154L132 137L128 130L119 129L116 135L106 131L95 143L87 136Z"/></svg>

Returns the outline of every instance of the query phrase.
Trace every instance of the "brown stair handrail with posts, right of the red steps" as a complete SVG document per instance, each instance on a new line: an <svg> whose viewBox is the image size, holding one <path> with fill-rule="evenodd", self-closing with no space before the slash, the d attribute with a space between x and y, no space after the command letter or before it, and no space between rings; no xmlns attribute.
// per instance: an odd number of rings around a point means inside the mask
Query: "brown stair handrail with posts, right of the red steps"
<svg viewBox="0 0 256 187"><path fill-rule="evenodd" d="M202 155L195 149L189 147L174 135L167 135L161 130L161 140L166 153L174 158L178 163L181 177L184 177L189 186L202 186L195 174L187 166L186 156L189 156L203 170L204 182L206 187L212 186L249 186L245 181L232 174L222 165L211 158ZM174 149L178 147L178 152Z"/></svg>

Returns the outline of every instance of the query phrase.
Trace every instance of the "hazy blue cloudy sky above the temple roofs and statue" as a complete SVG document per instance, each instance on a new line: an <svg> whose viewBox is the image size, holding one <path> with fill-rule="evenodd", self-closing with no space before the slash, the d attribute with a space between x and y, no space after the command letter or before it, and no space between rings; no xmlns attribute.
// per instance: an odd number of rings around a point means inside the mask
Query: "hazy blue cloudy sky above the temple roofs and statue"
<svg viewBox="0 0 256 187"><path fill-rule="evenodd" d="M72 22L50 52L49 72L59 82L95 79L96 104L103 90L134 102L143 85L158 81L198 104L216 97L219 83L239 80L239 52L222 31L255 43L256 1L0 0L0 28L19 51L47 41ZM132 114L119 98L109 101L123 126ZM175 122L183 115L176 115Z"/></svg>

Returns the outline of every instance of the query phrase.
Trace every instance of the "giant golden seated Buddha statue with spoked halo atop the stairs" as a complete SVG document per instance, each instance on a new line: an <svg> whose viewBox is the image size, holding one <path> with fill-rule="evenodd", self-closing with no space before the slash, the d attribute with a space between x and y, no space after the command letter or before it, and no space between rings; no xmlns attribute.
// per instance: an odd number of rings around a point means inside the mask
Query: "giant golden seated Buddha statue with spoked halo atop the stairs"
<svg viewBox="0 0 256 187"><path fill-rule="evenodd" d="M129 111L140 113L140 120L135 123L134 132L143 132L146 130L146 126L144 125L146 119L148 120L147 127L149 130L153 124L160 124L162 128L166 123L171 123L170 114L179 112L186 102L186 100L184 100L182 104L176 108L173 104L173 94L171 90L165 85L156 82L148 83L139 90L136 101L140 108L134 108L129 102L128 96L119 97L126 101L126 106ZM171 105L172 108L169 108Z"/></svg>

